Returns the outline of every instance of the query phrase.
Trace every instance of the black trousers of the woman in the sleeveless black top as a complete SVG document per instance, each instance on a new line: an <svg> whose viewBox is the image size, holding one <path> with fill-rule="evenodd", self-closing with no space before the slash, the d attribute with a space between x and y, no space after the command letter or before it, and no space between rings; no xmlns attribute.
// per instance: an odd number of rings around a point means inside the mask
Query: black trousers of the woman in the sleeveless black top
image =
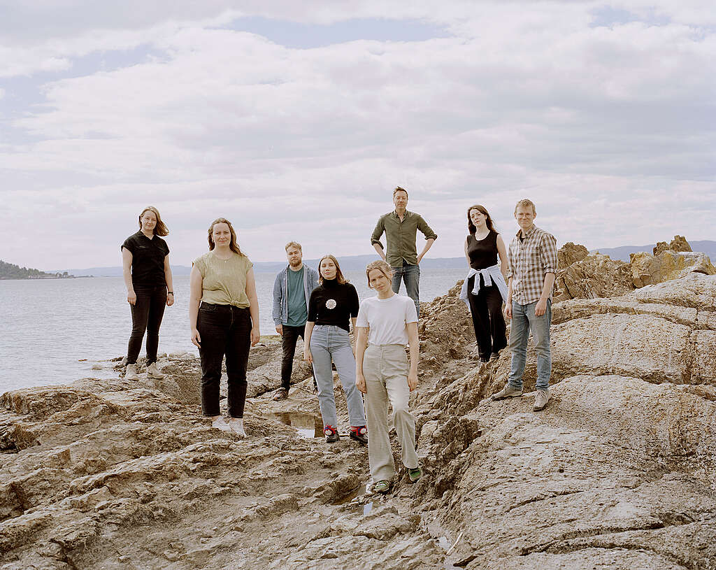
<svg viewBox="0 0 716 570"><path fill-rule="evenodd" d="M500 352L507 346L505 334L505 317L502 314L502 295L496 285L483 286L480 293L473 295L475 276L468 279L468 301L470 314L473 315L473 328L475 340L478 342L480 358L488 359L493 352Z"/></svg>

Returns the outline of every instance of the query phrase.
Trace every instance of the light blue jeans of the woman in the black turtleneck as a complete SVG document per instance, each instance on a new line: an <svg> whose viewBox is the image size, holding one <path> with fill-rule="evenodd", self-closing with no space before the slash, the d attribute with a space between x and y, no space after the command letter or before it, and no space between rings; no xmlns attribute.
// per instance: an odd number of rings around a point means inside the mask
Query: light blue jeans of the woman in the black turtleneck
<svg viewBox="0 0 716 570"><path fill-rule="evenodd" d="M336 364L338 376L346 394L351 425L365 425L363 398L356 387L356 359L353 356L348 332L334 325L317 324L311 332L310 347L324 427L332 425L338 429L331 361Z"/></svg>

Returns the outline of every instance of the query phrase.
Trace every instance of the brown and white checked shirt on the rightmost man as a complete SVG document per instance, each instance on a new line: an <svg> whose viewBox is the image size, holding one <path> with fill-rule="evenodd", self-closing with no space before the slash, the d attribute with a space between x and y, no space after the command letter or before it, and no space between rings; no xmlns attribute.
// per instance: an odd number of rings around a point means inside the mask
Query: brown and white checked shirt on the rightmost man
<svg viewBox="0 0 716 570"><path fill-rule="evenodd" d="M537 226L532 226L523 240L520 232L510 242L507 276L512 278L512 300L527 305L539 301L545 275L557 272L557 241Z"/></svg>

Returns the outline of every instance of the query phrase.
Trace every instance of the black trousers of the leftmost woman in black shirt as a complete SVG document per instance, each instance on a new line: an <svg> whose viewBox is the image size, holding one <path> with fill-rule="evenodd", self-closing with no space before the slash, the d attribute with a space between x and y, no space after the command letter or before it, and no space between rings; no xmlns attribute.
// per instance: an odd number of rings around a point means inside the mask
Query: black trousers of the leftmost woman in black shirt
<svg viewBox="0 0 716 570"><path fill-rule="evenodd" d="M132 309L132 334L127 346L127 364L137 364L142 348L144 333L147 333L147 365L157 362L159 327L162 324L164 308L167 306L167 286L135 286L137 302Z"/></svg>

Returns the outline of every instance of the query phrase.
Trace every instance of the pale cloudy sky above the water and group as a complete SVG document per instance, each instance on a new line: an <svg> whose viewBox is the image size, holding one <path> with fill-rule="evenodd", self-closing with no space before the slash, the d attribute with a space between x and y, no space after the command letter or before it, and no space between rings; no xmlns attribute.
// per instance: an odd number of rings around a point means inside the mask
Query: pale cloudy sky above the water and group
<svg viewBox="0 0 716 570"><path fill-rule="evenodd" d="M173 264L219 216L362 255L396 185L434 257L521 198L560 245L716 239L715 62L712 0L2 0L0 259L120 265L147 205Z"/></svg>

